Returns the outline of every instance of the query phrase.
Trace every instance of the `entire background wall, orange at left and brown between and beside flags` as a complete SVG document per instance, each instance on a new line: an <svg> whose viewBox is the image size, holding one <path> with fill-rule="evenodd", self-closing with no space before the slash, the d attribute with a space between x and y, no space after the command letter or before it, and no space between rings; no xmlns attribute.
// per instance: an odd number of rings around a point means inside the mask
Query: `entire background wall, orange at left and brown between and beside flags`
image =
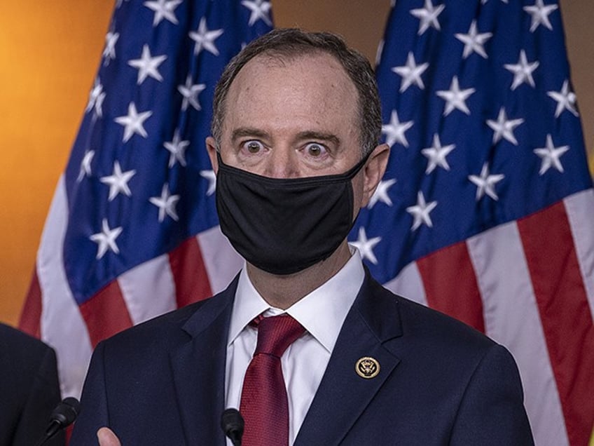
<svg viewBox="0 0 594 446"><path fill-rule="evenodd" d="M562 0L586 141L594 146L594 2ZM326 29L371 60L389 0L272 0L279 27ZM0 320L15 325L43 222L102 53L113 2L0 2Z"/></svg>

